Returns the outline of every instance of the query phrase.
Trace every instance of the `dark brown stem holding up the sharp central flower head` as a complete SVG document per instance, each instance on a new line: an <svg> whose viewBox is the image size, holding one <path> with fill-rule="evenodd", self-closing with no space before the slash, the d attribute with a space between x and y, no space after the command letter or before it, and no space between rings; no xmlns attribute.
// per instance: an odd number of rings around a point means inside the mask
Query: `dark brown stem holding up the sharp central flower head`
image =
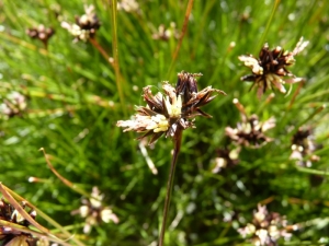
<svg viewBox="0 0 329 246"><path fill-rule="evenodd" d="M173 185L174 169L175 169L175 165L177 165L178 155L181 150L182 136L183 136L183 129L179 127L177 129L175 137L174 137L174 150L173 150L173 155L172 155L172 160L171 160L171 164L170 164L170 172L169 172L168 184L167 184L167 194L166 194L166 200L164 200L161 232L160 232L160 237L159 237L159 246L163 246L164 234L166 234L166 224L167 224L167 219L168 219L168 211L169 211L170 198L171 198L171 191L172 191L172 185Z"/></svg>

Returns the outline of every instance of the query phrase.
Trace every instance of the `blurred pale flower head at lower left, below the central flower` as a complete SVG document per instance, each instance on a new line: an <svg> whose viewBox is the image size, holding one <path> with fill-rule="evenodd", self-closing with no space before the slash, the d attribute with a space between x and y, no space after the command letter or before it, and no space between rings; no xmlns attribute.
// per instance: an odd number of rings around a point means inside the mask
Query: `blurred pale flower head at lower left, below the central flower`
<svg viewBox="0 0 329 246"><path fill-rule="evenodd" d="M103 198L104 195L100 192L98 187L93 187L91 198L83 199L83 204L78 210L71 212L71 214L80 214L82 218L86 218L83 233L90 233L91 227L101 222L109 223L112 221L115 224L118 223L116 214L109 207L102 206Z"/></svg>

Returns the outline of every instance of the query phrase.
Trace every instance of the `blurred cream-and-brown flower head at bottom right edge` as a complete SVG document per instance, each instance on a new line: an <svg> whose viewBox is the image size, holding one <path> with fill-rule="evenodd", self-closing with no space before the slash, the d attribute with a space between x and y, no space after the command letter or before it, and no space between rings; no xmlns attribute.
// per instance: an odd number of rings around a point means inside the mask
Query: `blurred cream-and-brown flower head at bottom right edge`
<svg viewBox="0 0 329 246"><path fill-rule="evenodd" d="M242 237L250 238L257 246L276 246L277 239L290 239L287 221L279 213L269 212L265 206L258 204L258 211L253 212L252 223L238 230Z"/></svg>

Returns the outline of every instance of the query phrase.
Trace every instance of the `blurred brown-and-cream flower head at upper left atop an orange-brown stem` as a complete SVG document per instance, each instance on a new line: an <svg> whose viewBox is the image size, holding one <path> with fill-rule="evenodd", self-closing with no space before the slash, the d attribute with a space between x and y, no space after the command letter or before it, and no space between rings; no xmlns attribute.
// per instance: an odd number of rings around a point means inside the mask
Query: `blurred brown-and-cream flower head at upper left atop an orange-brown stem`
<svg viewBox="0 0 329 246"><path fill-rule="evenodd" d="M101 26L101 23L94 13L93 5L84 5L84 12L83 15L76 16L75 24L61 22L61 27L66 28L75 37L75 42L89 40L94 37L97 31Z"/></svg>

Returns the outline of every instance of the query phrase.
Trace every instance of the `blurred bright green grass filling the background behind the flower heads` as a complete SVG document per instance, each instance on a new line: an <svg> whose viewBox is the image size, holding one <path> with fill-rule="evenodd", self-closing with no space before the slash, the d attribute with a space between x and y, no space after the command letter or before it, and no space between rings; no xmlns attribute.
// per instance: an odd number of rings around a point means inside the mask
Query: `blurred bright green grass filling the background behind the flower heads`
<svg viewBox="0 0 329 246"><path fill-rule="evenodd" d="M121 74L95 45L73 43L60 26L82 15L83 4L95 7L101 27L94 39L111 57L117 31ZM134 105L145 105L144 86L152 85L156 93L162 81L175 84L182 70L201 72L200 89L212 85L227 96L204 108L212 119L198 117L196 129L184 131L167 244L249 245L237 229L251 222L259 202L300 225L280 245L328 243L329 114L326 108L317 113L329 98L328 2L194 1L177 61L188 1L138 0L136 7L118 8L115 22L112 1L0 0L0 104L12 92L24 95L27 104L14 117L0 116L0 180L61 225L72 225L72 234L87 245L156 245L172 141L161 138L146 147L155 175L136 134L115 125L134 114ZM26 35L26 28L39 24L55 30L47 46ZM161 39L160 25L177 35ZM291 71L306 82L294 84L286 95L275 93L270 103L269 91L258 99L256 90L249 91L251 83L240 81L250 69L238 56L257 57L264 43L293 50L302 36L309 45ZM242 148L238 165L214 173L216 151L232 147L225 128L241 121L234 98L261 121L275 117L276 127L266 132L273 141L261 149ZM321 147L311 167L290 160L298 127L311 128ZM87 192L99 187L120 223L101 223L83 235L83 219L71 215L81 195L52 173L39 148L67 179ZM39 181L29 183L30 177Z"/></svg>

